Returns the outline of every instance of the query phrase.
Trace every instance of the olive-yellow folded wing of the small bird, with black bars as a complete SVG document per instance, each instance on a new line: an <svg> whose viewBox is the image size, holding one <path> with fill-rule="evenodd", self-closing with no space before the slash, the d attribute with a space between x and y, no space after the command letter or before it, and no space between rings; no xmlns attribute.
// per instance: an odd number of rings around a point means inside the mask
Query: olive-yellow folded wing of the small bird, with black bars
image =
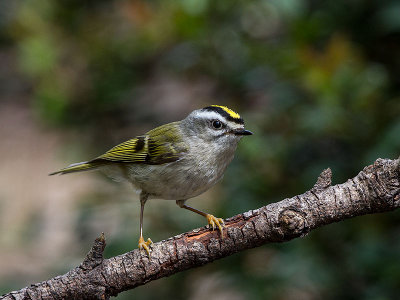
<svg viewBox="0 0 400 300"><path fill-rule="evenodd" d="M175 123L162 125L115 146L90 162L158 165L179 160L187 152L179 130Z"/></svg>

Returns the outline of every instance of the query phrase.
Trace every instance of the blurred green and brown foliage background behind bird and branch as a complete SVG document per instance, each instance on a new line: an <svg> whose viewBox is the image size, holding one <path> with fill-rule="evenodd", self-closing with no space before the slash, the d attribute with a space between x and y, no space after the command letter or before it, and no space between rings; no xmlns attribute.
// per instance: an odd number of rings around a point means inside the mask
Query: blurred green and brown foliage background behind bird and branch
<svg viewBox="0 0 400 300"><path fill-rule="evenodd" d="M48 177L154 126L227 105L255 135L190 200L229 217L400 154L400 1L0 0L0 294L137 247L138 197ZM117 299L397 299L400 214L245 251ZM151 201L145 237L204 225Z"/></svg>

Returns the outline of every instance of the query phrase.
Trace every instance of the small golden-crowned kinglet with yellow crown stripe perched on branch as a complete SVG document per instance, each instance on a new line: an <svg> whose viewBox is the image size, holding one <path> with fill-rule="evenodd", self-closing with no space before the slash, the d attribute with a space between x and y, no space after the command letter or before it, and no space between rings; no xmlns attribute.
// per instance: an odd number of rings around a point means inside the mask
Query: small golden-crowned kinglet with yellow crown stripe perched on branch
<svg viewBox="0 0 400 300"><path fill-rule="evenodd" d="M243 119L233 110L211 105L190 113L178 122L162 125L110 149L95 159L69 165L51 173L68 174L99 169L117 180L126 180L140 191L139 249L150 255L151 239L143 239L143 210L148 199L176 200L206 217L222 232L224 221L185 205L223 176L232 161L237 143L244 135Z"/></svg>

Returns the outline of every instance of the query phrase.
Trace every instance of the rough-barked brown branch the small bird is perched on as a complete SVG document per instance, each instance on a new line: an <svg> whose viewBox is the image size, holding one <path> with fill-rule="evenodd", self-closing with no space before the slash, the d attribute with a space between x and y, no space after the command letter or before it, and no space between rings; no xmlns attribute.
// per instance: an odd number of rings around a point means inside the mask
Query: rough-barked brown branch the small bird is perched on
<svg viewBox="0 0 400 300"><path fill-rule="evenodd" d="M108 299L245 249L288 241L323 225L399 206L399 159L378 159L335 186L331 186L331 170L326 169L304 194L227 219L223 239L218 231L203 227L155 243L151 259L138 250L104 259L106 243L101 235L80 266L0 299Z"/></svg>

